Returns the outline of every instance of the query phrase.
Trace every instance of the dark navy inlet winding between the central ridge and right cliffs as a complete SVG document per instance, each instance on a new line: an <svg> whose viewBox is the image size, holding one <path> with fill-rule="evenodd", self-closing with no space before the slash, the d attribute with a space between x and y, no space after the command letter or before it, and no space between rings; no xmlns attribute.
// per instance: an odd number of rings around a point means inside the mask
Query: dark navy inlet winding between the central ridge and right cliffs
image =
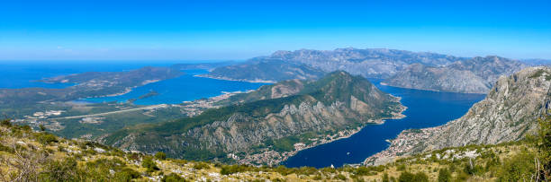
<svg viewBox="0 0 551 182"><path fill-rule="evenodd" d="M343 164L360 163L367 157L386 149L393 139L405 129L441 126L447 121L462 117L482 94L450 93L402 89L379 84L371 80L382 91L402 97L402 104L408 109L402 119L389 119L383 125L369 125L357 134L333 143L322 144L301 152L286 160L287 167L311 166L340 167Z"/></svg>

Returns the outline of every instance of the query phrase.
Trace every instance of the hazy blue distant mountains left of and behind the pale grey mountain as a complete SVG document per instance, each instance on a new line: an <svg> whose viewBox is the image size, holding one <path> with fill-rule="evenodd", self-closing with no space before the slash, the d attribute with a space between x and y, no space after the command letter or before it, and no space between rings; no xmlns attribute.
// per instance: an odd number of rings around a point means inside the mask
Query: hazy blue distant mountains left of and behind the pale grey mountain
<svg viewBox="0 0 551 182"><path fill-rule="evenodd" d="M301 49L295 51L277 51L271 56L256 57L252 59L253 61L241 65L218 67L211 74L207 75L209 77L229 80L283 81L316 78L316 76L311 75L319 75L315 73L319 73L320 71L330 73L342 70L364 77L386 78L415 63L440 66L465 59L434 53L416 53L385 48ZM256 64L257 62L265 64ZM236 73L235 70L238 68L239 72ZM293 70L295 70L295 73L289 73Z"/></svg>

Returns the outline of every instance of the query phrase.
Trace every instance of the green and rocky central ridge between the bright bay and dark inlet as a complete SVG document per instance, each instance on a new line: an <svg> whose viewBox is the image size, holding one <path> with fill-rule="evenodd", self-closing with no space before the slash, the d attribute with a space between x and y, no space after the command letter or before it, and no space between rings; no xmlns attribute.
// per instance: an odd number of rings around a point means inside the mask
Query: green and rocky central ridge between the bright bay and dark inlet
<svg viewBox="0 0 551 182"><path fill-rule="evenodd" d="M126 128L103 141L176 158L276 164L304 147L354 133L382 118L399 117L404 109L399 99L345 72L315 82L264 86L236 97L230 100L238 104L175 122Z"/></svg>

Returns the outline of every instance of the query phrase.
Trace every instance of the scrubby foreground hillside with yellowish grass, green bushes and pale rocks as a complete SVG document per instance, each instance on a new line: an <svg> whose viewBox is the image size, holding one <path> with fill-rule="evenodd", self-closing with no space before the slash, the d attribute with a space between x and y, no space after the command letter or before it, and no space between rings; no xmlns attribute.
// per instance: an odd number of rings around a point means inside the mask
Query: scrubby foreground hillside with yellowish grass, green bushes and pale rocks
<svg viewBox="0 0 551 182"><path fill-rule="evenodd" d="M122 152L0 122L1 181L534 181L535 156L537 148L522 142L448 148L376 167L251 167Z"/></svg>

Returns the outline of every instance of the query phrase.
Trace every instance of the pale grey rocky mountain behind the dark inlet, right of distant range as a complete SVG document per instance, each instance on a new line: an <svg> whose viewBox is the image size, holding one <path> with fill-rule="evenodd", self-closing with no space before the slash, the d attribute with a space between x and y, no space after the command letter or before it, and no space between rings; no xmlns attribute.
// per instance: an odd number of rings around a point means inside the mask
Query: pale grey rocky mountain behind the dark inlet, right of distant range
<svg viewBox="0 0 551 182"><path fill-rule="evenodd" d="M410 65L384 83L429 91L487 93L501 75L523 67L518 61L499 56L474 57L446 66Z"/></svg>

